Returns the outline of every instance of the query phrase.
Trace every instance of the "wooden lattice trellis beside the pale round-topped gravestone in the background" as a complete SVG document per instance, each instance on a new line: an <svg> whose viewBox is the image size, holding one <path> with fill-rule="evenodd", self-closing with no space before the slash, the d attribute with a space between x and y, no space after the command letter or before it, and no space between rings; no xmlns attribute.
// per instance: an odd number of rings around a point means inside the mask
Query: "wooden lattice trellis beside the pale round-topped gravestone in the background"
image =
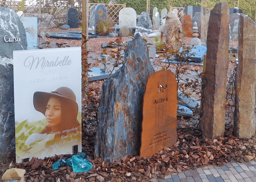
<svg viewBox="0 0 256 182"><path fill-rule="evenodd" d="M90 6L93 6L93 5L97 6L98 5L98 3L89 3L89 4L90 4ZM103 3L103 4L106 6L106 8L108 10L108 17L110 19L112 19L114 22L118 22L119 21L119 18L118 18L119 17L119 11L121 9L125 8L126 4L111 4L111 5L106 4L106 3Z"/></svg>

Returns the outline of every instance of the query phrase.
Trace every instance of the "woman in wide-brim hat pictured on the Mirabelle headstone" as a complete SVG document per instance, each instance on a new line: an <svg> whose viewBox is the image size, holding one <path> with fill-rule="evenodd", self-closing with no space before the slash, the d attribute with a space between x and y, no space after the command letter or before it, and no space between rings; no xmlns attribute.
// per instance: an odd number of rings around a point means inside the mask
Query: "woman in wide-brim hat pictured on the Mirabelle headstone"
<svg viewBox="0 0 256 182"><path fill-rule="evenodd" d="M63 140L74 139L70 133L77 133L79 122L77 120L78 104L76 95L67 87L60 87L52 92L37 91L33 97L34 107L44 114L47 123L45 128L32 134L25 142L28 147L34 147L37 141L50 140L47 147L63 145Z"/></svg>

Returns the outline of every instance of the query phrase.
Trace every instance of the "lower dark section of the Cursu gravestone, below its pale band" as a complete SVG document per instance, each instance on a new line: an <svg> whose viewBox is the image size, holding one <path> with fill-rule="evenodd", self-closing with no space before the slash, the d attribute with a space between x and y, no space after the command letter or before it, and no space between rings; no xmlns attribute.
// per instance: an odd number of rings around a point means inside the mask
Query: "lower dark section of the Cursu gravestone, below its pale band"
<svg viewBox="0 0 256 182"><path fill-rule="evenodd" d="M0 158L15 154L13 65L0 64Z"/></svg>

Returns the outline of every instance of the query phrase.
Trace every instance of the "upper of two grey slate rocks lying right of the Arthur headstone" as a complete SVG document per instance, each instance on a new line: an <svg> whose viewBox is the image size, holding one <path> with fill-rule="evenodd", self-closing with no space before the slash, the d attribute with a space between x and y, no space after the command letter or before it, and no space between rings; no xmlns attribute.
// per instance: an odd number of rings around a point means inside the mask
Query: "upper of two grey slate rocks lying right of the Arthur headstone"
<svg viewBox="0 0 256 182"><path fill-rule="evenodd" d="M190 109L200 108L200 102L198 100L195 100L193 97L187 98L181 91L178 91L177 101L181 102L180 105L184 105Z"/></svg>

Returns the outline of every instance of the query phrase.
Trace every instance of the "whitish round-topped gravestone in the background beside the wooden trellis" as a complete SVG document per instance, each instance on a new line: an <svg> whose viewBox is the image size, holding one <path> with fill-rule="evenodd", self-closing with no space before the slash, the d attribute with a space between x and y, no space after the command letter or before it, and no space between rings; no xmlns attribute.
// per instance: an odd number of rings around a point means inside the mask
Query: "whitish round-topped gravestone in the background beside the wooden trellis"
<svg viewBox="0 0 256 182"><path fill-rule="evenodd" d="M137 14L133 8L123 8L119 11L119 26L136 27Z"/></svg>

